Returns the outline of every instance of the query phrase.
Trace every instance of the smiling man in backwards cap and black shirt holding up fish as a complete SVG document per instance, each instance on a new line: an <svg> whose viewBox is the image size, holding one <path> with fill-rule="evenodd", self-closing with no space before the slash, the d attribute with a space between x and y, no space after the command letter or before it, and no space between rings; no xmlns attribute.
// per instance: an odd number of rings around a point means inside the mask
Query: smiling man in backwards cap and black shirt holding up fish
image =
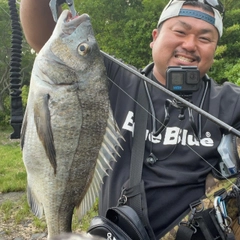
<svg viewBox="0 0 240 240"><path fill-rule="evenodd" d="M172 0L162 12L150 43L154 65L145 74L166 86L169 66L197 66L201 86L193 92L190 101L227 124L240 128L240 89L226 83L218 86L206 75L210 69L219 38L222 35L221 4L211 1ZM21 22L29 44L39 51L54 27L49 0L21 0ZM116 63L105 58L114 117L126 140L121 158L105 179L100 195L99 212L105 215L109 207L116 206L121 191L129 178L134 131L134 114L140 80ZM122 89L122 90L121 90ZM178 107L170 107L169 122L154 135L166 117L166 101L173 99L166 93L147 85L152 115L148 117L142 178L148 206L150 225L160 239L178 224L189 204L205 193L205 181L212 167L218 167L220 155L217 147L223 131L219 126L193 112L179 120ZM128 97L128 95L131 96ZM190 113L189 113L190 114ZM197 132L193 130L196 127ZM196 138L195 136L198 136ZM155 161L150 163L149 156Z"/></svg>

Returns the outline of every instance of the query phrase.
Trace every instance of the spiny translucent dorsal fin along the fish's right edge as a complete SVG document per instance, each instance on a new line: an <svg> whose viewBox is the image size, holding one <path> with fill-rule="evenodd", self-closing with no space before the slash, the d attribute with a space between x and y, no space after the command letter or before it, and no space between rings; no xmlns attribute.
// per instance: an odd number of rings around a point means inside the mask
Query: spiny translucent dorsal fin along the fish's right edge
<svg viewBox="0 0 240 240"><path fill-rule="evenodd" d="M77 216L81 219L87 211L91 209L99 196L99 190L103 183L103 177L107 176L107 170L112 170L110 162L116 161L115 156L119 156L119 148L122 149L120 141L125 141L120 133L116 121L113 119L112 111L109 111L109 117L106 127L106 133L99 150L92 182L77 208Z"/></svg>

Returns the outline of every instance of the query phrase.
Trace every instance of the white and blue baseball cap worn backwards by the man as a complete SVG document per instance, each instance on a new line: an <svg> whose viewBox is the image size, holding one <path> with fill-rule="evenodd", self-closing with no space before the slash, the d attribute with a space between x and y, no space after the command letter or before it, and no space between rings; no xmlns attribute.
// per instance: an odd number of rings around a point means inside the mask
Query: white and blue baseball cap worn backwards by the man
<svg viewBox="0 0 240 240"><path fill-rule="evenodd" d="M187 17L194 17L194 18L202 19L202 20L212 24L218 30L219 36L220 37L222 36L222 33L223 33L222 16L216 8L211 6L212 10L214 12L214 17L213 17L212 15L209 15L203 11L182 8L182 6L185 2L186 1L182 1L182 0L170 0L160 15L157 27L159 27L159 25L162 22L164 22L165 20L167 20L169 18L177 17L177 16L187 16ZM202 2L202 1L200 1L200 2ZM203 3L205 3L205 2L203 2Z"/></svg>

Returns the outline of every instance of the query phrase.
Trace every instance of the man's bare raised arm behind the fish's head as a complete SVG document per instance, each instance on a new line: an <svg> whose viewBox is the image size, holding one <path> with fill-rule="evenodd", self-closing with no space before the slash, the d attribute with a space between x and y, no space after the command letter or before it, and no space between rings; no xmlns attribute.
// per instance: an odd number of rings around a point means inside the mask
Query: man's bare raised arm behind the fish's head
<svg viewBox="0 0 240 240"><path fill-rule="evenodd" d="M39 52L55 26L49 0L21 0L20 21L28 44Z"/></svg>

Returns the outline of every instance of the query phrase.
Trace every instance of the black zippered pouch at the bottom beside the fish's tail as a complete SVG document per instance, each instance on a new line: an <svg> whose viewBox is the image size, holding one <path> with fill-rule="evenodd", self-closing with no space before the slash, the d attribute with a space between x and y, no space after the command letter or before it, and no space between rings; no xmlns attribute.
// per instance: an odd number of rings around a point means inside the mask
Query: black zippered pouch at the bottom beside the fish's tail
<svg viewBox="0 0 240 240"><path fill-rule="evenodd" d="M126 205L108 209L106 217L94 217L88 233L106 239L150 240L137 213Z"/></svg>

